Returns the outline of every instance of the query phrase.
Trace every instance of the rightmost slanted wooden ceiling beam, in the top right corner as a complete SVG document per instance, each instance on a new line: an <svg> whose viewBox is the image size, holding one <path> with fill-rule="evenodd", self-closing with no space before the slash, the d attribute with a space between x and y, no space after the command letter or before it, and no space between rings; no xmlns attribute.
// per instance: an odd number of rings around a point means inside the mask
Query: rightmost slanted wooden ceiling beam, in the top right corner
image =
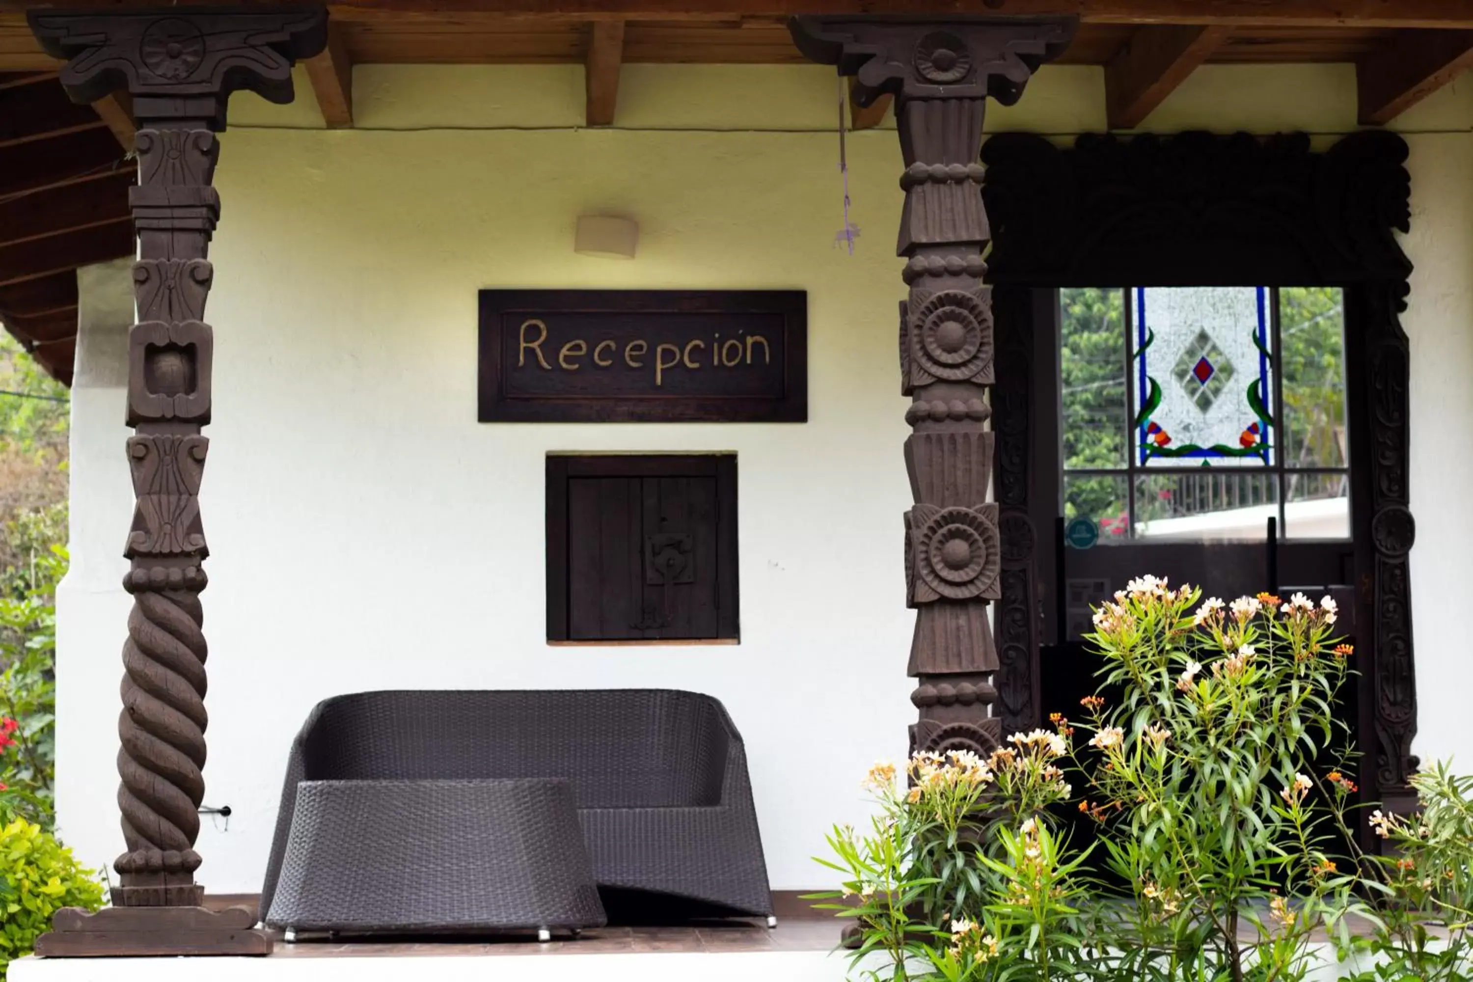
<svg viewBox="0 0 1473 982"><path fill-rule="evenodd" d="M1401 31L1355 65L1360 119L1385 125L1473 68L1473 29Z"/></svg>

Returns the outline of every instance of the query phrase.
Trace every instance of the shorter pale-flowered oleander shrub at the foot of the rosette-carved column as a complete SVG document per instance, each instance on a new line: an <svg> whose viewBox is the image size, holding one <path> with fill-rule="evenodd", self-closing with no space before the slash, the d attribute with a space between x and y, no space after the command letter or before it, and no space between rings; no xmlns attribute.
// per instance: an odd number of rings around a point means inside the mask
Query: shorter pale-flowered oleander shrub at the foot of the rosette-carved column
<svg viewBox="0 0 1473 982"><path fill-rule="evenodd" d="M1043 820L1071 788L1058 733L1013 735L982 760L969 751L916 754L897 774L876 764L865 780L879 805L866 833L829 835L843 892L819 894L820 908L857 919L856 964L881 955L881 979L912 975L1016 979L1002 951L1043 966L1068 964L1080 948L1083 889L1065 842ZM901 786L900 777L904 777Z"/></svg>

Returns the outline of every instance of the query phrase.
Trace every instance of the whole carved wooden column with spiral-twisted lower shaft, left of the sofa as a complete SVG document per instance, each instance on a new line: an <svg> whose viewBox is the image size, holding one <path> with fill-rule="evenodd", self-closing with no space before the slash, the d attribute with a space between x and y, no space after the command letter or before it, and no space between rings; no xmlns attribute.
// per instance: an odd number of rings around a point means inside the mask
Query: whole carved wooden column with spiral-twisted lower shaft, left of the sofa
<svg viewBox="0 0 1473 982"><path fill-rule="evenodd" d="M219 218L211 187L231 91L292 100L292 65L323 50L323 7L56 13L32 10L46 50L68 59L62 84L90 103L133 94L138 186L130 190L138 261L138 322L128 340L128 459L137 496L124 555L133 595L122 648L118 805L127 851L113 867L113 908L63 911L46 955L265 954L253 911L211 914L194 882L205 794L205 635L200 590L209 555L199 487L209 440L211 350L205 299Z"/></svg>

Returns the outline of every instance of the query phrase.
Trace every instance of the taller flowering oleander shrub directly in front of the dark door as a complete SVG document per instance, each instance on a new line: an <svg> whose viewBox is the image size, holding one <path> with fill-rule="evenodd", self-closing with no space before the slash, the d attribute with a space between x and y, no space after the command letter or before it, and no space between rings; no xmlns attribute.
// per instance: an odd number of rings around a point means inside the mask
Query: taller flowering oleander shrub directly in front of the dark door
<svg viewBox="0 0 1473 982"><path fill-rule="evenodd" d="M1355 785L1333 707L1352 652L1336 612L1149 576L1096 611L1102 692L1119 696L1084 699L1077 807L1130 885L1099 926L1131 975L1302 978L1311 933L1364 910L1343 858Z"/></svg>

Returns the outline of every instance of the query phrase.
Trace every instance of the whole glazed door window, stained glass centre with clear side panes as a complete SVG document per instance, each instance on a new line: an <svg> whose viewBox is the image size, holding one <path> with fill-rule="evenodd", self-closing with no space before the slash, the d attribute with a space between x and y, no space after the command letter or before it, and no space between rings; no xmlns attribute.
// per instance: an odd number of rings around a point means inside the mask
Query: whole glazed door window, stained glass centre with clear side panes
<svg viewBox="0 0 1473 982"><path fill-rule="evenodd" d="M1059 292L1064 517L1099 542L1349 536L1333 287Z"/></svg>

